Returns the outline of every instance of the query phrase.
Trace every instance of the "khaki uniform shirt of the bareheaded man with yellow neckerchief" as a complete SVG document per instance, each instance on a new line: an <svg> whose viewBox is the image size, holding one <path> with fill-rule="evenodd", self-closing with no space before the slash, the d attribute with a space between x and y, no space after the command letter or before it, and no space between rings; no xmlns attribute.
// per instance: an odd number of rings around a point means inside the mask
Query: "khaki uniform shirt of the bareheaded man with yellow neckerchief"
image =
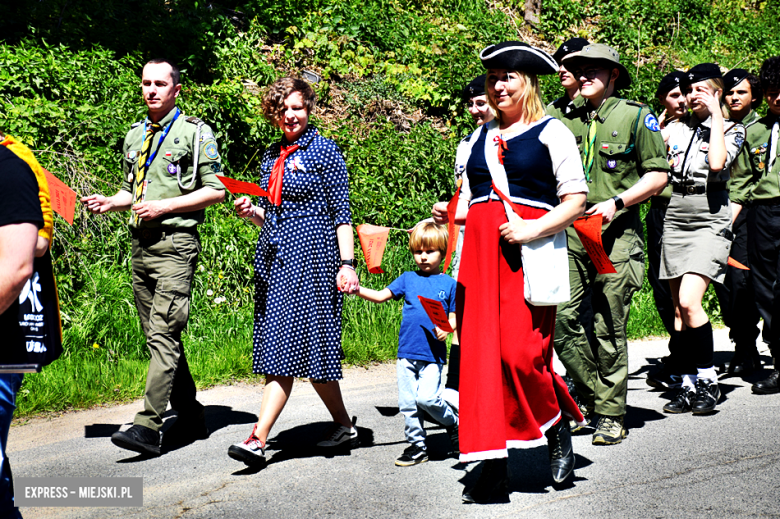
<svg viewBox="0 0 780 519"><path fill-rule="evenodd" d="M163 129L173 120L175 113L176 109L174 108L159 122ZM203 124L200 127L199 142L195 142L195 134L199 123L201 121L196 117L187 117L184 114L180 114L173 123L146 172L148 184L146 196L144 197L145 201L175 198L197 191L202 187L219 190L225 188L216 177L216 174L222 172L222 163L217 148L217 141L208 125ZM122 190L129 191L131 194L135 193L137 185L138 161L141 156L141 147L146 135L147 124L149 124L148 119L134 124L125 137L125 143L122 147L122 171L124 176ZM163 130L160 130L152 137L149 156L158 148L162 133ZM193 152L193 150L195 151ZM198 153L197 172L193 170L193 153ZM189 187L189 189L183 189L179 185L179 173L181 174L181 184ZM193 175L197 178L190 186ZM137 226L133 224L133 219L130 218L130 226L141 229L163 226L179 229L194 228L196 225L203 223L204 216L205 209L188 213L166 214L150 221L139 220Z"/></svg>

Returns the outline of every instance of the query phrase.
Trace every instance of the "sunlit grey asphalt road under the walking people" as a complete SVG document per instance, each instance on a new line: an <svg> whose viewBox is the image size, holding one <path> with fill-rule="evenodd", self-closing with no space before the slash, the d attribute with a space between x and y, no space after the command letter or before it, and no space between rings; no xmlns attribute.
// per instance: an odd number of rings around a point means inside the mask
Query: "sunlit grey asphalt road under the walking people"
<svg viewBox="0 0 780 519"><path fill-rule="evenodd" d="M716 360L728 360L730 348L718 330ZM227 456L256 420L261 387L251 385L200 393L211 437L160 458L110 442L140 401L14 426L8 452L17 478L143 477L143 508L22 508L25 518L780 517L780 395L750 391L769 368L746 380L722 378L725 396L712 416L666 415L670 396L645 384L665 341L633 342L629 352L628 438L595 447L589 435L575 436L575 478L557 489L546 447L510 451L509 504L461 503L478 465L447 458L443 429L429 430L430 462L393 464L406 446L393 365L345 372L345 401L361 441L351 453L314 448L329 416L311 385L297 381L259 471Z"/></svg>

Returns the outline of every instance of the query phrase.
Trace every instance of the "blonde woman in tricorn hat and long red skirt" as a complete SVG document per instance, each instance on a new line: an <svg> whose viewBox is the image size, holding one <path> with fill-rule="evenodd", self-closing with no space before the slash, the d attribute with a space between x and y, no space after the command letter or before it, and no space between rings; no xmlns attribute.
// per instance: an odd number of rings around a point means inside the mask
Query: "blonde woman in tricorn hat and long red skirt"
<svg viewBox="0 0 780 519"><path fill-rule="evenodd" d="M516 41L491 45L480 58L496 119L471 141L455 218L466 223L456 305L460 460L485 461L464 490L467 503L508 499L508 448L547 443L553 479L566 480L574 470L567 420L583 421L552 368L555 307L526 301L520 258L521 247L565 229L585 209L574 136L544 115L539 93L537 75L558 67ZM447 221L446 204L433 215Z"/></svg>

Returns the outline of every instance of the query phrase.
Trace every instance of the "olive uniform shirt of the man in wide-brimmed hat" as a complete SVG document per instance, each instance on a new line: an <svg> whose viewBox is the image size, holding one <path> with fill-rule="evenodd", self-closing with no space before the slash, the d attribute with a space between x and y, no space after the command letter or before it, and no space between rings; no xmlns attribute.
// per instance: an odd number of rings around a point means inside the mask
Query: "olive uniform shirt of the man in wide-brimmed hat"
<svg viewBox="0 0 780 519"><path fill-rule="evenodd" d="M561 119L574 134L583 159L592 113L588 102ZM590 204L622 194L648 171L669 171L664 139L649 106L610 97L595 117L598 126L588 184Z"/></svg>

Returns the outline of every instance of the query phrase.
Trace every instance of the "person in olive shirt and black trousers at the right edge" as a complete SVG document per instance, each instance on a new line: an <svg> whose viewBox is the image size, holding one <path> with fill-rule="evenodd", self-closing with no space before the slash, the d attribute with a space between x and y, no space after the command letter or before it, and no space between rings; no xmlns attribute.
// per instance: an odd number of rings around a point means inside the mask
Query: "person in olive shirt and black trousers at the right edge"
<svg viewBox="0 0 780 519"><path fill-rule="evenodd" d="M750 274L758 311L764 319L764 336L769 340L775 364L769 378L753 384L753 392L768 395L780 393L780 56L764 61L759 77L769 111L766 117L747 126L747 146L743 149L750 166L744 174L752 184L746 200L750 207Z"/></svg>

